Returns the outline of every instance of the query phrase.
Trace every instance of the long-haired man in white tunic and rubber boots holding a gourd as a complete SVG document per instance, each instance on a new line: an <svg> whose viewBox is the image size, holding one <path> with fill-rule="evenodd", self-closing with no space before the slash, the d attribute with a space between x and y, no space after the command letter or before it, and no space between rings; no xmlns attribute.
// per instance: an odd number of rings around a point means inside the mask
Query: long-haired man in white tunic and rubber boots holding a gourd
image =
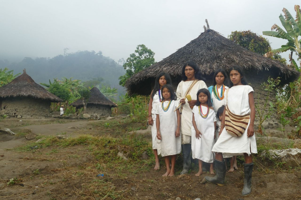
<svg viewBox="0 0 301 200"><path fill-rule="evenodd" d="M197 102L197 91L207 86L201 73L200 68L194 61L188 61L182 67L182 81L177 88L178 103L182 103L180 107L181 115L181 137L182 137L182 153L183 153L183 170L181 174L187 174L191 168L191 126L192 126L192 108ZM186 98L190 94L191 100Z"/></svg>

